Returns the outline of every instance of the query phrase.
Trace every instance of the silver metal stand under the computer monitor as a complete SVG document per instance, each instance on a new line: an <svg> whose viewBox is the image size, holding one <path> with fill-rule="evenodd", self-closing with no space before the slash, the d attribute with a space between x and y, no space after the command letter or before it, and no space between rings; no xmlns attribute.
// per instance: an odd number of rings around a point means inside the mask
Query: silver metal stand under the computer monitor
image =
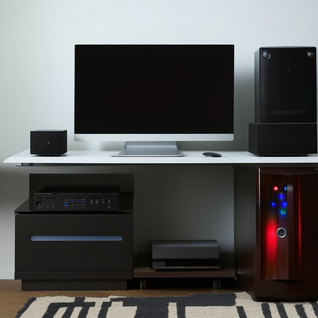
<svg viewBox="0 0 318 318"><path fill-rule="evenodd" d="M181 157L184 154L178 149L175 141L126 141L119 154L111 157Z"/></svg>

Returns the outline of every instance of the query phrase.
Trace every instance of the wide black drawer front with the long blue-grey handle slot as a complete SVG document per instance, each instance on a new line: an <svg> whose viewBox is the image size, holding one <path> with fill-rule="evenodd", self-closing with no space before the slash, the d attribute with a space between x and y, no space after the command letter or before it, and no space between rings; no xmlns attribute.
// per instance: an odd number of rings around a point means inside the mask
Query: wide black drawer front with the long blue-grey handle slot
<svg viewBox="0 0 318 318"><path fill-rule="evenodd" d="M131 214L16 214L15 228L16 272L133 271Z"/></svg>

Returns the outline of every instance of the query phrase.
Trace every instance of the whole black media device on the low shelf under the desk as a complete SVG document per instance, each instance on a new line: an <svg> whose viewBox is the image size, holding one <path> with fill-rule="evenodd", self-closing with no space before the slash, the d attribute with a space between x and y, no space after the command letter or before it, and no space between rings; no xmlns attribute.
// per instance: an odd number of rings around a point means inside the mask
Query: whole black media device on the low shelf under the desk
<svg viewBox="0 0 318 318"><path fill-rule="evenodd" d="M152 241L152 268L156 270L200 270L220 268L216 240Z"/></svg>

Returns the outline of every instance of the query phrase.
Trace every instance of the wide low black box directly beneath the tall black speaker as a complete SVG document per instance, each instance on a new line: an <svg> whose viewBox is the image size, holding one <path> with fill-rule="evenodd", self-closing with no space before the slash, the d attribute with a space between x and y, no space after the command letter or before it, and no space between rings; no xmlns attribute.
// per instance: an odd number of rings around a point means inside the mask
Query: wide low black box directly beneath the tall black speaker
<svg viewBox="0 0 318 318"><path fill-rule="evenodd" d="M250 123L248 151L260 156L317 153L316 123Z"/></svg>

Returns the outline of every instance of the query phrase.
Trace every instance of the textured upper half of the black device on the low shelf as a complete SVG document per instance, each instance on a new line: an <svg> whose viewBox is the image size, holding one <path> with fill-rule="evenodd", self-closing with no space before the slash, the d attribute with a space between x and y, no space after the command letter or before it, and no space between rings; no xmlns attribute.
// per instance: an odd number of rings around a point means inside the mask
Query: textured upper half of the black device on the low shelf
<svg viewBox="0 0 318 318"><path fill-rule="evenodd" d="M152 241L153 259L213 259L219 257L216 240Z"/></svg>

